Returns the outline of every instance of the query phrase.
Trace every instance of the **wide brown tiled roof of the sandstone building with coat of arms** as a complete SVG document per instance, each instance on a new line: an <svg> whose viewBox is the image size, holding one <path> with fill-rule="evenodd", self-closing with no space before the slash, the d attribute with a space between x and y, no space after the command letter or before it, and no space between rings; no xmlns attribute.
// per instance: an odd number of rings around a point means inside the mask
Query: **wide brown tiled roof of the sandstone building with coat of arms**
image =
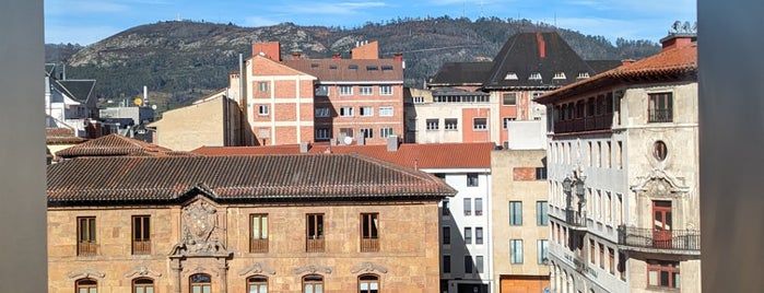
<svg viewBox="0 0 764 293"><path fill-rule="evenodd" d="M47 169L50 204L362 200L456 195L443 180L361 154L83 157Z"/></svg>

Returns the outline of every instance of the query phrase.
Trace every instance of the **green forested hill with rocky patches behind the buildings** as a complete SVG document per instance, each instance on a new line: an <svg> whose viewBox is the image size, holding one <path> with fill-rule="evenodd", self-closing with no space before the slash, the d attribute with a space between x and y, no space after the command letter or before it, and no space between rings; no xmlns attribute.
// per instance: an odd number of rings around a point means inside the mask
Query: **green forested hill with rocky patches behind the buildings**
<svg viewBox="0 0 764 293"><path fill-rule="evenodd" d="M168 21L136 26L86 47L47 45L46 61L66 62L69 79L96 79L97 95L104 99L133 97L146 85L163 110L227 86L228 72L238 69L238 55L248 58L252 43L278 40L284 56L299 51L304 58L329 58L333 52L349 57L356 42L378 40L383 58L403 52L407 85L421 87L444 62L490 61L509 36L551 30L589 60L640 59L660 50L657 40L611 44L602 36L498 17L398 19L355 28Z"/></svg>

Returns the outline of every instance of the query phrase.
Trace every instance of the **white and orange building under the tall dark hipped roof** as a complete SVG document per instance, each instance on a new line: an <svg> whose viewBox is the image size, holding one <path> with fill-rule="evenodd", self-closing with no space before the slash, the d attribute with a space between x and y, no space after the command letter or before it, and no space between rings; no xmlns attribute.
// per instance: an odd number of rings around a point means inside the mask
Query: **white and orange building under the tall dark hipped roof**
<svg viewBox="0 0 764 293"><path fill-rule="evenodd" d="M545 108L533 98L618 65L583 60L556 32L518 33L492 62L446 63L428 80L432 104L413 104L418 142L492 141L506 146L510 121L542 119ZM440 134L454 130L462 134Z"/></svg>

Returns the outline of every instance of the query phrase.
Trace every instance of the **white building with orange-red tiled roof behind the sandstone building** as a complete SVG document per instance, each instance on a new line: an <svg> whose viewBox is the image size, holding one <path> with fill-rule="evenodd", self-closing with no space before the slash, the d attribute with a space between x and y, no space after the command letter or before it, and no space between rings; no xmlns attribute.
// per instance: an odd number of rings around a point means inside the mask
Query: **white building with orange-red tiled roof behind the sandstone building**
<svg viewBox="0 0 764 293"><path fill-rule="evenodd" d="M457 190L444 199L439 215L439 292L496 292L491 248L492 204L491 155L493 143L399 144L387 145L303 144L250 148L204 146L192 151L200 155L254 155L298 153L359 153L416 168L442 178ZM499 184L502 184L499 181ZM542 192L541 196L545 196ZM432 291L436 292L436 291Z"/></svg>

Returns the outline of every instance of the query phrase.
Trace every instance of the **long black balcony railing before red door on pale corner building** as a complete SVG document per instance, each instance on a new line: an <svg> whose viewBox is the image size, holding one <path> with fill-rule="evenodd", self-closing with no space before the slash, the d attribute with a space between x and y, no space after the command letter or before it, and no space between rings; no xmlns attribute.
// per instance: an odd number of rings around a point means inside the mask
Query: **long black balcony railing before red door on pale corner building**
<svg viewBox="0 0 764 293"><path fill-rule="evenodd" d="M619 244L640 248L700 251L701 231L654 231L622 225L619 226Z"/></svg>

